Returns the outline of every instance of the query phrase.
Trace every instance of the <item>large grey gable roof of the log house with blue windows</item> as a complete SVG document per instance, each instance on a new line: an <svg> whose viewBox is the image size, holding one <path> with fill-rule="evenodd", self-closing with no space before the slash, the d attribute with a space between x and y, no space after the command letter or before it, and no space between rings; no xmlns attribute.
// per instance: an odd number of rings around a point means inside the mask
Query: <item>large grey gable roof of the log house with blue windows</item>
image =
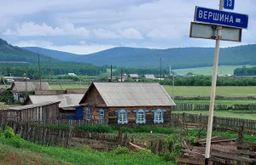
<svg viewBox="0 0 256 165"><path fill-rule="evenodd" d="M90 88L93 85L108 106L175 105L166 89L159 83L92 83ZM90 88L86 94L90 92ZM80 104L83 104L84 97Z"/></svg>

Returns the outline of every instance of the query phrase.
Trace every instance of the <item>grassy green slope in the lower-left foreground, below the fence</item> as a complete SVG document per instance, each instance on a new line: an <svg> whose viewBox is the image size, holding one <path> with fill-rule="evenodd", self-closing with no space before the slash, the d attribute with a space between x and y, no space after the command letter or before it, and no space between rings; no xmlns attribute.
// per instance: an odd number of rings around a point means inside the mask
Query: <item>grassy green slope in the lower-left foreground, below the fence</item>
<svg viewBox="0 0 256 165"><path fill-rule="evenodd" d="M4 150L1 151L2 149ZM117 155L108 151L94 151L87 147L64 149L35 145L22 139L0 139L0 151L0 154L3 152L3 155L0 155L1 164L27 164L24 162L27 159L35 160L39 164L171 164L160 156L143 152ZM9 156L12 159L13 154L19 156L20 162L9 162Z"/></svg>

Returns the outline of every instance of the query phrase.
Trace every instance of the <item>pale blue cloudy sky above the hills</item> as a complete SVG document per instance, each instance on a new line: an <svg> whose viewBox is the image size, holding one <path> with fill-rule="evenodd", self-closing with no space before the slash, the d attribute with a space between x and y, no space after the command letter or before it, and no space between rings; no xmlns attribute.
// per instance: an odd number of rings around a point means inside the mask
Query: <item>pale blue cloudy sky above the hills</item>
<svg viewBox="0 0 256 165"><path fill-rule="evenodd" d="M214 47L189 38L195 6L218 9L218 0L9 0L1 1L0 37L16 46L90 54L113 47ZM256 2L236 0L249 14L242 42L256 43Z"/></svg>

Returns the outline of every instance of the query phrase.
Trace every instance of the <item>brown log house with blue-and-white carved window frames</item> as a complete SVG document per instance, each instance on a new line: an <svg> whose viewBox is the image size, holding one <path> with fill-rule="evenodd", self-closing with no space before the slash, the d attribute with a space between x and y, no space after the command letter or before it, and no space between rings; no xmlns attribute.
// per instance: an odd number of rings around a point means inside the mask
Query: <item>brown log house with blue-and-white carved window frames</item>
<svg viewBox="0 0 256 165"><path fill-rule="evenodd" d="M175 105L159 83L91 83L79 104L84 120L108 124L169 124Z"/></svg>

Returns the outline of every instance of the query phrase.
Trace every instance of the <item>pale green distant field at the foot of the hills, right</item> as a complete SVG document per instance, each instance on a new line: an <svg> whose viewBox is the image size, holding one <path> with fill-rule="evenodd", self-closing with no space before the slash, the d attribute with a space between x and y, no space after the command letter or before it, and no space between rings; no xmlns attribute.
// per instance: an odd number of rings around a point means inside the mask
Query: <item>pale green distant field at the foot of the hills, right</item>
<svg viewBox="0 0 256 165"><path fill-rule="evenodd" d="M242 65L219 65L218 75L234 74L236 68L241 68ZM247 67L253 67L253 65L247 65ZM188 69L178 69L175 70L179 75L185 75L188 72L193 72L195 75L212 75L212 66L209 67L198 67L198 68L188 68Z"/></svg>

